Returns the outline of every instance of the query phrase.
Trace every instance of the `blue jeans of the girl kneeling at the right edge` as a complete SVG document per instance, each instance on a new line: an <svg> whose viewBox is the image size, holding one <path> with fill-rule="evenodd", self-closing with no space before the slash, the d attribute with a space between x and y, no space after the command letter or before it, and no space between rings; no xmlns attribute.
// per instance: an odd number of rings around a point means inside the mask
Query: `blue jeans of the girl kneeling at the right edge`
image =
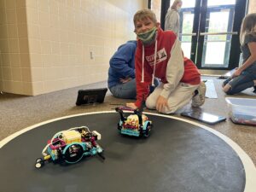
<svg viewBox="0 0 256 192"><path fill-rule="evenodd" d="M242 72L241 75L235 78L229 78L224 80L224 85L230 84L230 90L226 92L227 95L234 95L240 93L242 90L253 87L253 80L256 79L256 74L248 73L247 71Z"/></svg>

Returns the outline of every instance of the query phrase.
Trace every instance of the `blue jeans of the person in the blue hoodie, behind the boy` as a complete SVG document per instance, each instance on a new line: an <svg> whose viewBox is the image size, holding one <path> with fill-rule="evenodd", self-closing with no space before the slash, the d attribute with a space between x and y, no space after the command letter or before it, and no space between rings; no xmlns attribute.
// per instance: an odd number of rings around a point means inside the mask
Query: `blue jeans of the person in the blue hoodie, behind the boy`
<svg viewBox="0 0 256 192"><path fill-rule="evenodd" d="M159 85L159 80L154 79L154 87ZM154 90L153 86L150 86L150 93ZM126 82L125 84L116 84L113 87L109 88L113 96L121 99L136 99L137 90L136 90L136 79Z"/></svg>

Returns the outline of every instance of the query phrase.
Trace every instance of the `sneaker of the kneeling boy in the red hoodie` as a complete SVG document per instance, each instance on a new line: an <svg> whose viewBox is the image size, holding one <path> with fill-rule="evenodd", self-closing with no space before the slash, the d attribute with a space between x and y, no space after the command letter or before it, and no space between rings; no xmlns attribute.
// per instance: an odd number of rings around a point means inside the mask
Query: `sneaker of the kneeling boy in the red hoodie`
<svg viewBox="0 0 256 192"><path fill-rule="evenodd" d="M197 108L200 107L202 104L204 104L206 100L206 91L207 91L207 86L206 84L201 81L199 87L197 90L195 90L195 96L192 98L192 106Z"/></svg>

